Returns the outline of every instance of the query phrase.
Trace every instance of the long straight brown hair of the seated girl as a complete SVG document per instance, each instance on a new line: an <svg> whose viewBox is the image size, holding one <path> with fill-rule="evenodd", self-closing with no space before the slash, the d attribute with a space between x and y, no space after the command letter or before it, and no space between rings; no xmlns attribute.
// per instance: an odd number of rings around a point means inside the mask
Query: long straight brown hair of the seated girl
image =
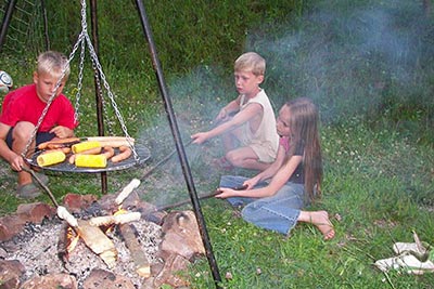
<svg viewBox="0 0 434 289"><path fill-rule="evenodd" d="M322 154L319 137L319 115L317 106L307 97L291 100L285 103L290 109L291 157L296 147L304 145L305 191L309 200L321 195Z"/></svg>

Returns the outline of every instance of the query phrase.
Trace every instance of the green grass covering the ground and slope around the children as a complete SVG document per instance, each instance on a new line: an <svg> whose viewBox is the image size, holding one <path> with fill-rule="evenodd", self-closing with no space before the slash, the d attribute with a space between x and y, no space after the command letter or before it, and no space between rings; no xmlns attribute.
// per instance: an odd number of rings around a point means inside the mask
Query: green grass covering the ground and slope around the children
<svg viewBox="0 0 434 289"><path fill-rule="evenodd" d="M432 15L422 16L406 1L283 2L237 1L231 6L219 1L213 9L205 1L194 8L189 1L149 4L184 143L191 133L210 128L217 109L234 96L232 62L242 51L256 50L266 57L264 88L276 109L298 95L311 96L320 106L324 196L310 209L330 212L336 237L323 241L315 227L304 224L289 237L266 232L245 223L225 201L204 200L202 211L221 287L433 288L432 274L384 274L373 266L375 260L394 254L395 241L412 241L412 231L434 242ZM77 6L77 1L68 3ZM133 9L130 5L125 9ZM117 8L105 2L100 9L111 11L100 14L107 81L128 132L152 152L143 167L108 173L108 193L115 194L175 145L137 19L132 13L115 14ZM78 17L73 6L49 11L55 11L50 16L59 23ZM176 11L182 13L168 25L168 13L178 15ZM378 35L371 23L383 34ZM71 28L75 26L59 26L52 31L53 45L68 51L64 42L75 41ZM393 37L397 35L401 37ZM15 87L31 81L33 55L7 53L0 64L13 76ZM73 66L65 92L74 101L77 67ZM77 135L95 134L94 119L93 79L87 64ZM107 130L123 134L110 107L106 121ZM214 191L224 172L208 163L222 153L219 140L188 146L186 153L197 194ZM15 175L4 162L0 170L0 214L4 215L22 200L13 196ZM98 174L49 175L60 201L66 193L101 194ZM139 191L155 205L188 198L176 156L142 180ZM47 196L38 200L50 203ZM206 259L194 263L191 279L192 288L214 287Z"/></svg>

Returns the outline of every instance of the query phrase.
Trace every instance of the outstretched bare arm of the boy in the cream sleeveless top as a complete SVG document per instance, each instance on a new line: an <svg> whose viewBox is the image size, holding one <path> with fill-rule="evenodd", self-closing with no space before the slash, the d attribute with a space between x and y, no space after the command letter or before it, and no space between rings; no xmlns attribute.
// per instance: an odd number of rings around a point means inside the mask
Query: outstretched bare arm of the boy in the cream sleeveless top
<svg viewBox="0 0 434 289"><path fill-rule="evenodd" d="M240 127L244 122L251 120L258 114L263 113L263 106L257 103L248 104L245 109L238 113L232 119L227 122L221 123L220 126L207 131L207 132L199 132L193 134L191 139L193 139L193 144L202 144L208 139L220 135L227 131L230 131L237 127Z"/></svg>

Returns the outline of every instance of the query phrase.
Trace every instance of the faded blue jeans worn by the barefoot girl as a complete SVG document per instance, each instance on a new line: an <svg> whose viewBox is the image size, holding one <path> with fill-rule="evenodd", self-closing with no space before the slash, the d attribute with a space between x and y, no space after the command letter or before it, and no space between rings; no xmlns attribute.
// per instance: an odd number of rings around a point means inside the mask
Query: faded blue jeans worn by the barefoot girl
<svg viewBox="0 0 434 289"><path fill-rule="evenodd" d="M220 187L241 186L247 178L224 175ZM255 188L267 186L263 182ZM304 203L304 185L288 182L276 195L266 198L232 197L227 200L234 207L244 206L241 214L245 221L259 227L289 234L297 223Z"/></svg>

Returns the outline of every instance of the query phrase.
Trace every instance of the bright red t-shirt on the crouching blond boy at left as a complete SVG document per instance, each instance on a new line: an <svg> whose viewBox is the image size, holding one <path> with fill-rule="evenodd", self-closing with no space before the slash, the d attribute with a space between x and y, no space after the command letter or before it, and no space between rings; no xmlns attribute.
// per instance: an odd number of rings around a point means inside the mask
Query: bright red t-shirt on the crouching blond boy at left
<svg viewBox="0 0 434 289"><path fill-rule="evenodd" d="M47 103L39 100L36 93L36 84L22 87L4 97L0 122L15 127L18 121L28 121L36 126L46 106ZM59 94L47 110L38 131L48 132L55 126L73 130L77 124L72 103L65 95Z"/></svg>

